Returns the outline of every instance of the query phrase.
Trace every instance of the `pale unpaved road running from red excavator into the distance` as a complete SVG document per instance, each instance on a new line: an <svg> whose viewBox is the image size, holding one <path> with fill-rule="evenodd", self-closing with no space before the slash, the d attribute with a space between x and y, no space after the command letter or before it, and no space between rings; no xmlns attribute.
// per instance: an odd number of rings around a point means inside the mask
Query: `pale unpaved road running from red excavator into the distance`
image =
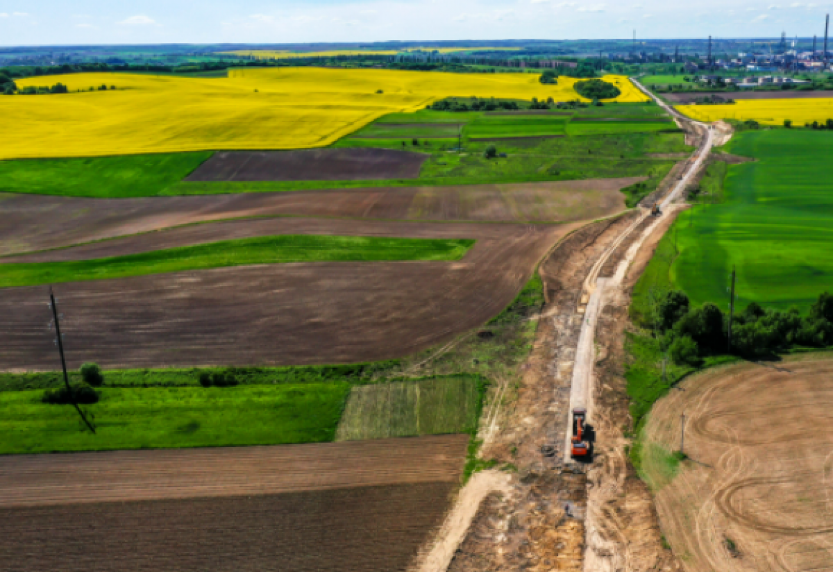
<svg viewBox="0 0 833 572"><path fill-rule="evenodd" d="M706 158L709 157L711 147L714 145L714 130L711 125L707 123L692 121L691 119L682 116L676 111L676 109L666 104L666 102L663 102L653 93L649 92L636 78L631 77L631 81L641 90L641 92L651 97L660 107L668 112L671 117L675 117L678 121L690 122L706 132L706 137L704 137L701 146L694 152L692 160L689 160L689 165L686 167L686 171L683 172L680 180L676 182L676 185L671 188L671 191L668 192L665 198L660 201L661 211L666 211L668 207L671 206L671 203L681 196L686 186L689 182L691 182L691 178L695 176L696 172L698 172L703 166ZM577 408L586 409L587 423L589 425L593 424L594 403L592 387L593 366L596 361L596 346L594 343L596 341L596 322L598 321L601 311L604 310L606 294L620 288L622 279L625 275L624 271L617 271L615 276L606 279L599 278L599 272L601 271L601 268L605 266L606 261L611 257L613 252L616 251L616 248L620 246L628 236L631 236L631 233L636 231L636 228L638 228L641 222L645 221L648 216L651 216L650 211L643 209L641 215L637 217L636 221L631 226L628 226L626 230L622 232L621 236L619 236L616 241L614 241L611 246L599 257L599 260L596 261L596 264L593 265L591 271L588 273L584 283L582 298L588 296L589 299L587 301L584 321L581 324L581 333L579 335L578 346L576 346L576 358L572 372L570 415L564 446L564 460L566 463L572 462L570 455L572 410ZM628 249L625 262L631 261L633 257L636 256L636 252L639 251L642 242L645 241L647 236L651 235L651 232L654 231L659 221L660 219L657 218L654 224L647 226L646 229L642 231L641 236L639 236L639 238L637 238Z"/></svg>

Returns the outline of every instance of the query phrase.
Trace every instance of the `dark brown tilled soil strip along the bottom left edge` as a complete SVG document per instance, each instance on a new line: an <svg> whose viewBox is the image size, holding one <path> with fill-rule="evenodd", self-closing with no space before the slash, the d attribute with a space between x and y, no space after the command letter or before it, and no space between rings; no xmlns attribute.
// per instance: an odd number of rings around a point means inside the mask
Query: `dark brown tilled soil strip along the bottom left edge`
<svg viewBox="0 0 833 572"><path fill-rule="evenodd" d="M392 572L456 483L0 509L9 572Z"/></svg>

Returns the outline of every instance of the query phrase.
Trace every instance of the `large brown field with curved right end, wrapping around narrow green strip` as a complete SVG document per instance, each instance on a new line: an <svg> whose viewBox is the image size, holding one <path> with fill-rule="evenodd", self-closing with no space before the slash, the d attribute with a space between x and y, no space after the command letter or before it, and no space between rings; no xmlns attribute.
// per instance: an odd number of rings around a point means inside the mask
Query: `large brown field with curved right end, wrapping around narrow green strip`
<svg viewBox="0 0 833 572"><path fill-rule="evenodd" d="M272 218L183 226L43 253L127 254L243 236L329 234L472 238L456 262L234 266L56 286L69 366L301 365L405 356L501 311L572 225ZM0 290L0 368L55 363L45 288Z"/></svg>

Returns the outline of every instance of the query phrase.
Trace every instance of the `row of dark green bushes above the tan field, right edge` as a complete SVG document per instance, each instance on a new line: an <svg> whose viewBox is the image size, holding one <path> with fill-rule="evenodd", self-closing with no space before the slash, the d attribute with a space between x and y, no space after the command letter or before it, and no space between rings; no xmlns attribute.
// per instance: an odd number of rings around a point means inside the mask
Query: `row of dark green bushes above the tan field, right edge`
<svg viewBox="0 0 833 572"><path fill-rule="evenodd" d="M682 291L670 291L654 305L655 331L661 346L681 365L699 366L706 356L731 353L746 359L775 356L794 346L833 345L833 296L825 292L807 316L796 308L765 309L752 302L731 323L714 304L692 309Z"/></svg>

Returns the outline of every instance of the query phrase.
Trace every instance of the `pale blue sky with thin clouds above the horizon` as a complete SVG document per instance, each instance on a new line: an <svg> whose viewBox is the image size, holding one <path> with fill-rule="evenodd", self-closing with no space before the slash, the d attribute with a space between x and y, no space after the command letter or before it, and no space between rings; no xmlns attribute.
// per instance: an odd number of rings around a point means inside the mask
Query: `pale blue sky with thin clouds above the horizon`
<svg viewBox="0 0 833 572"><path fill-rule="evenodd" d="M3 0L0 45L373 42L824 33L830 2Z"/></svg>

